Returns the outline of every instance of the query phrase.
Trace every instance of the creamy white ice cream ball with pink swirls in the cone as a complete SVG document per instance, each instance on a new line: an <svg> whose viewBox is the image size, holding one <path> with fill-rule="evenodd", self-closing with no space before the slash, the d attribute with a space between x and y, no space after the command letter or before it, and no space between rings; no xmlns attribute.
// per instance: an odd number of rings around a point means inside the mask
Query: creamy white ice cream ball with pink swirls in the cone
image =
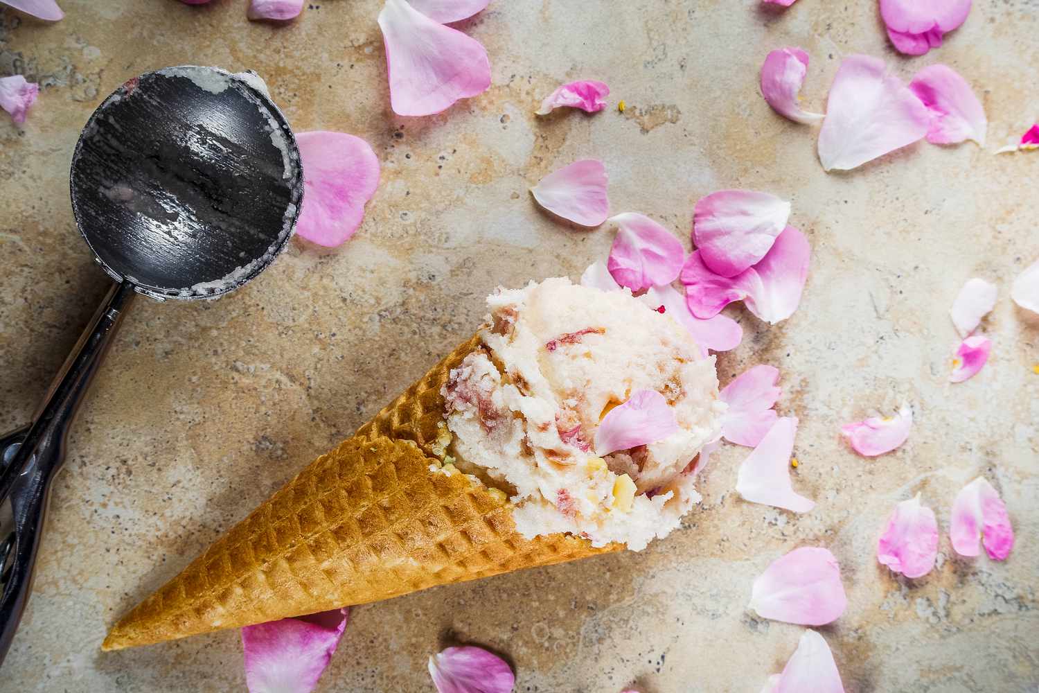
<svg viewBox="0 0 1039 693"><path fill-rule="evenodd" d="M714 357L673 318L566 278L487 299L483 347L444 389L450 454L507 490L526 536L569 532L639 550L699 500L695 460L718 438ZM639 391L660 393L677 428L600 456L595 432Z"/></svg>

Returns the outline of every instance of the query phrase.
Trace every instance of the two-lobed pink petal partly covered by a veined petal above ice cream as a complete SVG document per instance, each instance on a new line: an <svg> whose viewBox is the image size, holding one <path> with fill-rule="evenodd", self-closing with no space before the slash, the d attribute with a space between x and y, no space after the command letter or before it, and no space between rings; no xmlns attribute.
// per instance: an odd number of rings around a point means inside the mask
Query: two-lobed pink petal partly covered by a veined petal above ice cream
<svg viewBox="0 0 1039 693"><path fill-rule="evenodd" d="M686 285L689 310L697 318L714 317L728 303L742 299L747 310L775 324L792 316L800 304L810 256L808 239L794 226L787 226L760 263L731 278L712 272L699 250L689 256L678 277Z"/></svg>

